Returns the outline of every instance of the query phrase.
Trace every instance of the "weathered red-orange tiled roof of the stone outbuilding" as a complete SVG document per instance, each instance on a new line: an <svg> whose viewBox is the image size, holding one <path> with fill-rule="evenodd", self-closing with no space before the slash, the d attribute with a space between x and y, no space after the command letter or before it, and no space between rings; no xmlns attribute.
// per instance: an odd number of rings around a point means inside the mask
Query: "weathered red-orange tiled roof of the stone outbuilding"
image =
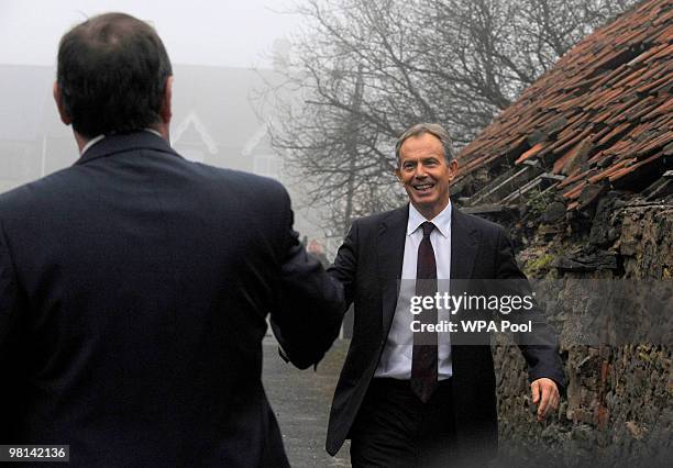
<svg viewBox="0 0 673 468"><path fill-rule="evenodd" d="M573 210L605 188L663 174L673 159L672 58L673 2L638 4L575 45L465 146L459 180L539 161Z"/></svg>

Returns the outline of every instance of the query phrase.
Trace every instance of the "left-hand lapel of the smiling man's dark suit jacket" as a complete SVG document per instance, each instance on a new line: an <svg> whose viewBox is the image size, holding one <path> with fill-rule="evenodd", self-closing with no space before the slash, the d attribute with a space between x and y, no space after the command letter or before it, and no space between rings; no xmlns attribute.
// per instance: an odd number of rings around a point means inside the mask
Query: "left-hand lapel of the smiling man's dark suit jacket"
<svg viewBox="0 0 673 468"><path fill-rule="evenodd" d="M408 220L409 205L407 204L391 211L378 226L378 278L382 288L384 337L388 335L397 307Z"/></svg>

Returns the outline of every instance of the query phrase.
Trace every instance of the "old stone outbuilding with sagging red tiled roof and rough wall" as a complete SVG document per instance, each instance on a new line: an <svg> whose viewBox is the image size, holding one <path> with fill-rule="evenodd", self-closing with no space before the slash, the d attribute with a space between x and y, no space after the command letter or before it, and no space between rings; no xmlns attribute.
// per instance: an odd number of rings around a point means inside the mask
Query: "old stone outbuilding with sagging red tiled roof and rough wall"
<svg viewBox="0 0 673 468"><path fill-rule="evenodd" d="M459 161L452 200L508 226L570 382L536 425L523 361L497 342L500 463L670 466L673 3L581 41Z"/></svg>

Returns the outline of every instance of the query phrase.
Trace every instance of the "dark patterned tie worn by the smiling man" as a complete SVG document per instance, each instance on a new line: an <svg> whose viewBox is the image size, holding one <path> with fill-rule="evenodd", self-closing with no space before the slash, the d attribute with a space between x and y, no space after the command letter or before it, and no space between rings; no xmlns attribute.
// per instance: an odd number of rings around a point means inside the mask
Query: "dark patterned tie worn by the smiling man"
<svg viewBox="0 0 673 468"><path fill-rule="evenodd" d="M418 263L416 269L416 296L430 296L434 300L437 293L437 264L434 250L430 244L430 233L434 224L424 222L423 239L418 246ZM421 324L437 324L437 308L423 309L419 314ZM437 332L415 332L413 352L411 356L411 391L424 403L430 400L437 388Z"/></svg>

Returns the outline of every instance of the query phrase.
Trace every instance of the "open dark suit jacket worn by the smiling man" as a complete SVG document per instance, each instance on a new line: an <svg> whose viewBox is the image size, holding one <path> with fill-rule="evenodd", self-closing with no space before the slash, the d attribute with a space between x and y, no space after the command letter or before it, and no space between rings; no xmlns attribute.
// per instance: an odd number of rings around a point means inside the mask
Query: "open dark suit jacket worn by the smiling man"
<svg viewBox="0 0 673 468"><path fill-rule="evenodd" d="M401 277L408 205L357 220L328 271L354 302L353 338L334 392L327 450L334 455L347 438L390 330ZM438 259L438 263L441 259ZM451 281L523 278L511 243L499 225L461 213L451 218ZM453 339L452 339L453 343ZM520 346L530 378L562 382L555 341L550 346ZM454 414L462 453L485 458L497 449L495 375L490 346L453 345Z"/></svg>

